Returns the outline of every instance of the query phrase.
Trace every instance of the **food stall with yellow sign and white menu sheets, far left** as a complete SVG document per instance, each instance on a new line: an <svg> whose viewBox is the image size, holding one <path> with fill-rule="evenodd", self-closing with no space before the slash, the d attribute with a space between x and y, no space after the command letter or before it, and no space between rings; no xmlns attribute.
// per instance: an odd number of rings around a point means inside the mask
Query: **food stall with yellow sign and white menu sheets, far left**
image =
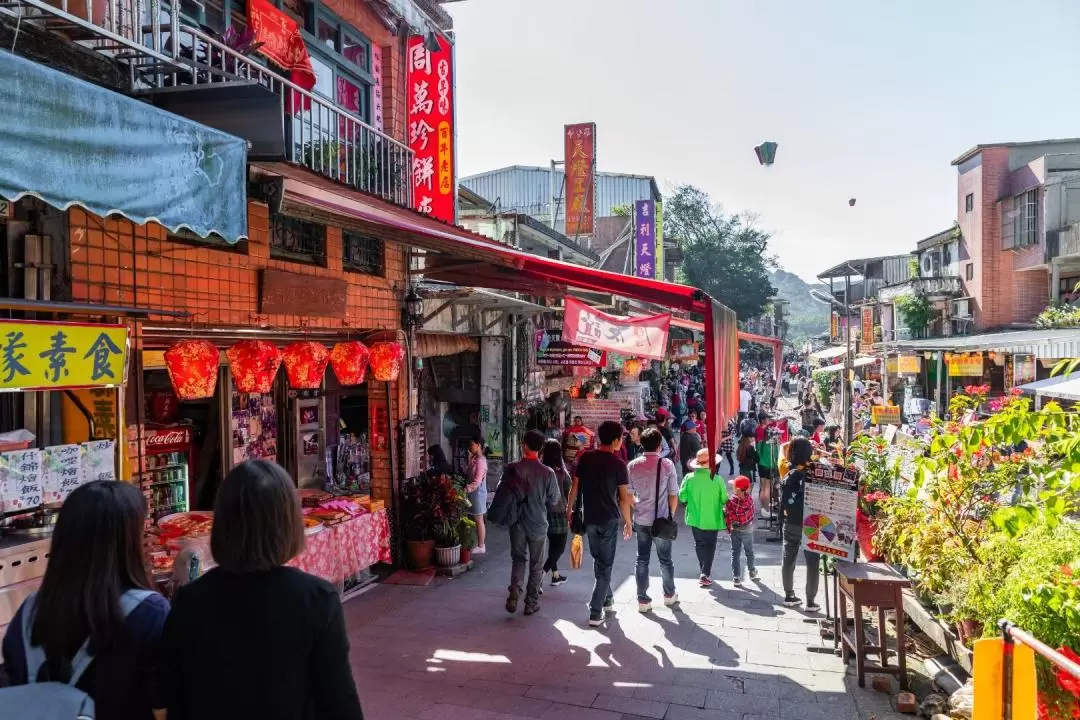
<svg viewBox="0 0 1080 720"><path fill-rule="evenodd" d="M68 303L43 304L49 313L76 312ZM107 315L116 317L96 317ZM41 583L64 500L90 480L121 477L116 448L127 327L5 320L0 338L2 635Z"/></svg>

